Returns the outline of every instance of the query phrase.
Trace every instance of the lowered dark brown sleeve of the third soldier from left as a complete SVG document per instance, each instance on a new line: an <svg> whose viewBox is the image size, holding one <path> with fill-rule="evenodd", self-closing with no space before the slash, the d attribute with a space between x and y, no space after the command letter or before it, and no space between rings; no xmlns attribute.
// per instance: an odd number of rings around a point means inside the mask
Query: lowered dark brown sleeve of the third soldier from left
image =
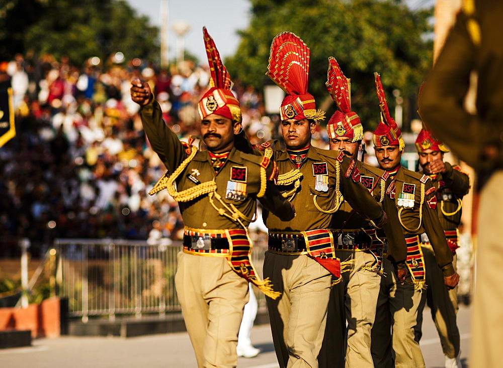
<svg viewBox="0 0 503 368"><path fill-rule="evenodd" d="M398 209L395 202L388 195L384 196L382 207L388 215L388 222L383 226L388 239L387 259L391 261L395 269L401 270L405 267L407 243L403 237L402 227L398 219Z"/></svg>

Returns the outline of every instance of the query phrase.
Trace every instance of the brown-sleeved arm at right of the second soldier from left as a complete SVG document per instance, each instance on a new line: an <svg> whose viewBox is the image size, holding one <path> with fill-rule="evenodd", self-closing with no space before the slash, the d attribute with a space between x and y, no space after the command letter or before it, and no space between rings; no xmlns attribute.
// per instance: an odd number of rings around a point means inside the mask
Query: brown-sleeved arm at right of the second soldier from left
<svg viewBox="0 0 503 368"><path fill-rule="evenodd" d="M352 161L344 156L341 162L341 190L344 198L355 211L367 216L381 227L387 221L386 213L369 190L360 183L358 168L352 164Z"/></svg>

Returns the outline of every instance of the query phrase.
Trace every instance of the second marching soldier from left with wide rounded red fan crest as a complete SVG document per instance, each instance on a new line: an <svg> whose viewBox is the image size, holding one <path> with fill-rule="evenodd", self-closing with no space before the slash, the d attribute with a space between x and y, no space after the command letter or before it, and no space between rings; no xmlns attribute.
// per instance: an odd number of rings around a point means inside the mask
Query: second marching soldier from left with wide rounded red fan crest
<svg viewBox="0 0 503 368"><path fill-rule="evenodd" d="M280 107L286 150L278 147L276 182L283 196L301 208L289 222L264 211L269 250L264 276L281 291L267 298L274 347L280 367L317 367L323 340L332 275L339 279L347 263L335 254L336 238L328 229L342 195L373 224L386 223L386 214L369 191L352 179L354 162L343 152L311 146L311 135L324 113L307 93L309 48L296 35L280 33L271 45L269 77L286 93ZM243 143L244 146L244 143ZM260 154L270 142L259 145ZM249 147L248 147L249 148Z"/></svg>

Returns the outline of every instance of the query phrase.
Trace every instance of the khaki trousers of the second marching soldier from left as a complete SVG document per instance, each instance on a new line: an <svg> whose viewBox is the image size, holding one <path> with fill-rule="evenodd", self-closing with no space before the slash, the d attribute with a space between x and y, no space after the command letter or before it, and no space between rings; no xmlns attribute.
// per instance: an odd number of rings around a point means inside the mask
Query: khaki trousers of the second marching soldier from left
<svg viewBox="0 0 503 368"><path fill-rule="evenodd" d="M281 296L267 298L281 368L317 368L326 323L331 274L307 256L266 252L264 277Z"/></svg>

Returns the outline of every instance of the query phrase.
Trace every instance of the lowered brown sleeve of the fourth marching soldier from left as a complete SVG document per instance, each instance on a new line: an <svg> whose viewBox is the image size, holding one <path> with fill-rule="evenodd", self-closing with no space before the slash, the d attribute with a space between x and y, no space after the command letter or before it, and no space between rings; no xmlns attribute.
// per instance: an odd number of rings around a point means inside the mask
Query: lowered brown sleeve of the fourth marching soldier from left
<svg viewBox="0 0 503 368"><path fill-rule="evenodd" d="M423 203L423 226L435 251L437 264L442 269L444 277L448 277L455 274L452 265L452 251L447 245L444 229L437 213L435 191L430 190L430 188L432 188L432 183L428 181L425 185L425 192L428 195L425 196L425 202Z"/></svg>

